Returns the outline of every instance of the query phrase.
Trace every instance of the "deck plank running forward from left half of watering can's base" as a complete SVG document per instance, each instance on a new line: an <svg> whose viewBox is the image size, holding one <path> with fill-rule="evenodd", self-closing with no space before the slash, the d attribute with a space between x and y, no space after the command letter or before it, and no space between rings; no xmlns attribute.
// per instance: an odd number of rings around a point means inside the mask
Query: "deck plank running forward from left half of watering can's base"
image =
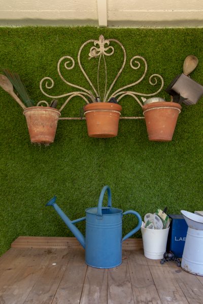
<svg viewBox="0 0 203 304"><path fill-rule="evenodd" d="M88 267L80 304L106 304L107 283L107 269Z"/></svg>

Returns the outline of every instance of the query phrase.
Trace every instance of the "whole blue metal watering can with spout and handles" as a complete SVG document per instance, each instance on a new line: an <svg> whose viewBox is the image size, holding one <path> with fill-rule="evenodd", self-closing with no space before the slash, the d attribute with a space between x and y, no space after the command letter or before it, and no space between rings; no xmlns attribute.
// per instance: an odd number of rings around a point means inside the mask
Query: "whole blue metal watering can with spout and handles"
<svg viewBox="0 0 203 304"><path fill-rule="evenodd" d="M108 207L103 207L105 192L108 193ZM86 209L86 216L70 220L56 204L56 196L46 206L53 206L67 227L85 248L85 262L95 268L113 268L122 263L122 242L136 233L142 224L140 214L133 210L123 212L111 205L111 189L104 186L101 190L98 206ZM138 218L138 225L122 238L122 217L134 214ZM86 236L74 225L86 219Z"/></svg>

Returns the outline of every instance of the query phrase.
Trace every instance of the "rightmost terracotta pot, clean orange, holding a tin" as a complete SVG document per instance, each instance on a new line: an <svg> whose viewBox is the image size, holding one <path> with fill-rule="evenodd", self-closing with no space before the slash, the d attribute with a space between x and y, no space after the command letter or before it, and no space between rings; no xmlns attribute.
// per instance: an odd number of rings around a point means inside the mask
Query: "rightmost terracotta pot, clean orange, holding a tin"
<svg viewBox="0 0 203 304"><path fill-rule="evenodd" d="M143 106L149 140L171 141L181 105L175 102L152 102Z"/></svg>

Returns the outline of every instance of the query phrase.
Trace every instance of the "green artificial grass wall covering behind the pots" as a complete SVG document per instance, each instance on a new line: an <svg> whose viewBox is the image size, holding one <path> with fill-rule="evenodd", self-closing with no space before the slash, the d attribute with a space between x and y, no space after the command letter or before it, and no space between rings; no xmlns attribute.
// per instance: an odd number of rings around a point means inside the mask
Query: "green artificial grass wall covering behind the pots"
<svg viewBox="0 0 203 304"><path fill-rule="evenodd" d="M96 27L0 28L0 67L16 71L31 98L50 101L40 89L40 80L55 81L53 95L70 92L57 74L57 62L65 55L76 61L66 79L89 89L79 70L77 54L89 39L119 40L126 49L127 63L115 88L139 79L129 67L133 56L143 56L148 72L134 91L155 92L148 81L161 74L164 88L159 97L168 99L165 87L182 72L187 55L196 55L199 64L191 77L203 84L203 29L98 29ZM91 79L96 79L94 59L83 62ZM120 58L121 53L118 51ZM112 58L108 84L121 59ZM110 57L108 58L110 60ZM69 73L70 72L70 73ZM168 213L202 210L202 99L183 105L173 141L150 142L144 120L120 120L115 138L89 138L85 121L59 121L55 142L49 146L30 143L20 106L0 88L0 254L18 236L73 236L53 208L45 204L54 195L63 211L76 219L85 209L97 205L101 188L108 184L114 207L138 211L142 217L157 208ZM60 100L62 104L65 99ZM142 116L141 107L125 97L120 104L123 116ZM62 116L79 116L84 102L72 99ZM105 197L105 203L107 198ZM123 219L123 233L136 224L131 215ZM81 231L85 223L78 224ZM141 237L138 232L135 237Z"/></svg>

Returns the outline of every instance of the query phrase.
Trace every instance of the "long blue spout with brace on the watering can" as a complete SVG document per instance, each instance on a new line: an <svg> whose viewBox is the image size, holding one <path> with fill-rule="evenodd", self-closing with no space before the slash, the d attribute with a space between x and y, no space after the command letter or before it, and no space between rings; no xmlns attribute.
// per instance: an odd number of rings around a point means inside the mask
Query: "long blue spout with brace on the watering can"
<svg viewBox="0 0 203 304"><path fill-rule="evenodd" d="M70 220L67 215L58 207L56 204L56 196L54 196L47 204L46 206L52 206L58 215L62 218L64 223L66 224L67 227L71 230L71 232L74 234L74 236L77 238L77 240L80 242L83 248L85 248L85 237L82 235L82 233L78 230L78 228L74 225L74 223L77 223L81 220L85 220L86 217L81 217L78 219L75 219L73 221Z"/></svg>

